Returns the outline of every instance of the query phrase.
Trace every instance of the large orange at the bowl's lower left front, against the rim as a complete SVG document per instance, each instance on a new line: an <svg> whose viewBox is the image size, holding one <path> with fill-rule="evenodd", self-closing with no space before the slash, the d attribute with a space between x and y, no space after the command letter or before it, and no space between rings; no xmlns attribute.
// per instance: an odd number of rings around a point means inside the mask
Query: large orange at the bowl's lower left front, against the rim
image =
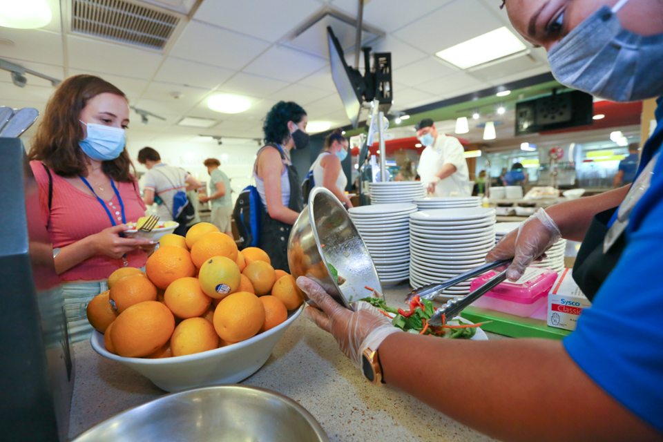
<svg viewBox="0 0 663 442"><path fill-rule="evenodd" d="M173 246L166 246L173 247ZM160 349L175 329L175 316L157 301L145 301L124 310L113 322L111 340L119 356L141 358Z"/></svg>

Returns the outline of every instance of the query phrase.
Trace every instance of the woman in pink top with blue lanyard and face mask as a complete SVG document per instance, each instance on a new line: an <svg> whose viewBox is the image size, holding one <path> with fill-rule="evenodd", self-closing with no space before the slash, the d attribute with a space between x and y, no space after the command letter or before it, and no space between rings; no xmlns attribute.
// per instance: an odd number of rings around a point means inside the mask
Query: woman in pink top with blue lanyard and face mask
<svg viewBox="0 0 663 442"><path fill-rule="evenodd" d="M106 291L108 276L144 267L150 240L123 238L127 222L145 213L126 151L129 107L121 90L77 75L55 90L30 144L41 215L64 291L69 334L90 337L88 302Z"/></svg>

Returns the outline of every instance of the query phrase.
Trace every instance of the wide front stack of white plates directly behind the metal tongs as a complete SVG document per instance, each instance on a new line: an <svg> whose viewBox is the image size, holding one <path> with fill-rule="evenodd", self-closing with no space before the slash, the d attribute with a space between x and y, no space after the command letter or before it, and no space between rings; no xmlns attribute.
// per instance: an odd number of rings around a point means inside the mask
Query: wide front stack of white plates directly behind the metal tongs
<svg viewBox="0 0 663 442"><path fill-rule="evenodd" d="M410 215L410 285L443 282L483 264L495 244L495 209L437 209ZM443 296L470 293L466 280Z"/></svg>

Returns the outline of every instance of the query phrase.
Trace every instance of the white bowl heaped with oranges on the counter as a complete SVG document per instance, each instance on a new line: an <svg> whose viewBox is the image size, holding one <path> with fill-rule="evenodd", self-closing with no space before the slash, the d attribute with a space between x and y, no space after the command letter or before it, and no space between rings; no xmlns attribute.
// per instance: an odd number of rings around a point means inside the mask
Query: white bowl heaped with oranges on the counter
<svg viewBox="0 0 663 442"><path fill-rule="evenodd" d="M208 223L164 236L145 273L119 269L108 287L88 304L93 349L168 392L251 376L304 309L267 253Z"/></svg>

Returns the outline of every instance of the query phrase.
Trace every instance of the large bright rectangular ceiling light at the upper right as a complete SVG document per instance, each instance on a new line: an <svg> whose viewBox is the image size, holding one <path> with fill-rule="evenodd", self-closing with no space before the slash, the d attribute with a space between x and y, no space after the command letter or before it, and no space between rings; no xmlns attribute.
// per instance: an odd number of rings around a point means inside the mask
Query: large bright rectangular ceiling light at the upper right
<svg viewBox="0 0 663 442"><path fill-rule="evenodd" d="M436 55L461 69L472 68L488 61L526 50L526 46L506 26L479 35Z"/></svg>

